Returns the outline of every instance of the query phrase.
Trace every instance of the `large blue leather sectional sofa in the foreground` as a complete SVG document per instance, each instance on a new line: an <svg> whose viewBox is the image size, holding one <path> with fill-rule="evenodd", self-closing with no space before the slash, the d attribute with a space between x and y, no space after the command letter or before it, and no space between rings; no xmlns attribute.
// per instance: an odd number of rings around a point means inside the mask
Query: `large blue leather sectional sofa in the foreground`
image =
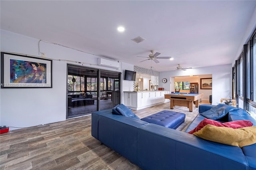
<svg viewBox="0 0 256 170"><path fill-rule="evenodd" d="M199 113L213 105L200 105ZM230 146L187 133L205 117L198 114L186 132L112 114L92 113L92 136L144 170L256 170L256 144ZM230 111L224 121L256 121L243 109Z"/></svg>

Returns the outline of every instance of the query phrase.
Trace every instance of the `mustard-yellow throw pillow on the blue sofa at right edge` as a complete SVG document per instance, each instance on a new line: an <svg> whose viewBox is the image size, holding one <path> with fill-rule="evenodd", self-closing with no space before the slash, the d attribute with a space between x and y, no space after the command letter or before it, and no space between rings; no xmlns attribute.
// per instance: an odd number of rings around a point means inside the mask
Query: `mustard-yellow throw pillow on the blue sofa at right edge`
<svg viewBox="0 0 256 170"><path fill-rule="evenodd" d="M248 146L256 143L256 127L228 128L206 125L194 135L213 142L232 146Z"/></svg>

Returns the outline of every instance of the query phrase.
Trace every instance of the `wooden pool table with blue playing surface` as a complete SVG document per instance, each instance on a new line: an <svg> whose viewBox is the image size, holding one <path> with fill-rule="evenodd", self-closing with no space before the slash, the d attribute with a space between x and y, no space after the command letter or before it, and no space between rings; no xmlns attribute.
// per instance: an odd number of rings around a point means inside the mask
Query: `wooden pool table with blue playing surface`
<svg viewBox="0 0 256 170"><path fill-rule="evenodd" d="M170 93L164 94L165 99L170 99L170 109L174 106L188 107L189 111L193 111L193 103L198 107L198 100L202 99L201 93Z"/></svg>

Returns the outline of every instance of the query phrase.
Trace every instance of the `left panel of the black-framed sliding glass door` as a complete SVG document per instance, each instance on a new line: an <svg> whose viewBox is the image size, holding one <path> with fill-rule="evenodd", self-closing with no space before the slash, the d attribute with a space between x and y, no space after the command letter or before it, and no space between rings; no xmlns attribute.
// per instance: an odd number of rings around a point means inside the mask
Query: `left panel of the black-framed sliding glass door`
<svg viewBox="0 0 256 170"><path fill-rule="evenodd" d="M96 69L68 65L67 119L97 111Z"/></svg>

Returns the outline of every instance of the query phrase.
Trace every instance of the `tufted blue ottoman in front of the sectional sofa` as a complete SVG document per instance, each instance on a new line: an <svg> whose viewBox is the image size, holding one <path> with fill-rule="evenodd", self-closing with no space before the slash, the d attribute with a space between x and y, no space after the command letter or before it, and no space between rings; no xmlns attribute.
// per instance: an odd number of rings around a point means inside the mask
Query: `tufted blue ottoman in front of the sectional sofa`
<svg viewBox="0 0 256 170"><path fill-rule="evenodd" d="M176 129L185 121L185 114L174 111L160 111L148 117L144 117L140 120L160 125L163 127Z"/></svg>

